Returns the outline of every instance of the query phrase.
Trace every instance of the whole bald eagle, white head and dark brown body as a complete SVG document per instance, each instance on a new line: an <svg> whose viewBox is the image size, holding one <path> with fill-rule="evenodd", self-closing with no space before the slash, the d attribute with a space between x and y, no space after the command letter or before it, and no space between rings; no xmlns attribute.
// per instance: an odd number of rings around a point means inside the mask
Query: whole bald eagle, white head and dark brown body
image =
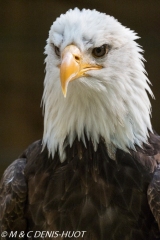
<svg viewBox="0 0 160 240"><path fill-rule="evenodd" d="M53 23L44 133L2 177L2 239L160 240L160 137L137 39L96 10Z"/></svg>

